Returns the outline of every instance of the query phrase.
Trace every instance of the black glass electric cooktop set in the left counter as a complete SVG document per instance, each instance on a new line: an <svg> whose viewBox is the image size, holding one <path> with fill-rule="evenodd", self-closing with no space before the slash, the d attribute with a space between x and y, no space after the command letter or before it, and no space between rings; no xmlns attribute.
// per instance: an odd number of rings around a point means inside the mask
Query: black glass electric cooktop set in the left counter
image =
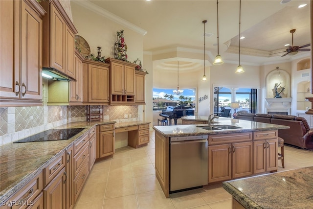
<svg viewBox="0 0 313 209"><path fill-rule="evenodd" d="M34 142L34 141L55 141L67 140L75 136L84 128L49 129L36 135L14 141L13 143Z"/></svg>

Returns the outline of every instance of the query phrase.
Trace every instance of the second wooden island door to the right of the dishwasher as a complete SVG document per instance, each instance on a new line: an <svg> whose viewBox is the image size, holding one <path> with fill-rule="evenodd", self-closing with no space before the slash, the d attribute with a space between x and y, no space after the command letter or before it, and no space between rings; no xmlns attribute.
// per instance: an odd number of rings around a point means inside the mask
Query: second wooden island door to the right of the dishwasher
<svg viewBox="0 0 313 209"><path fill-rule="evenodd" d="M252 141L232 144L232 178L252 175Z"/></svg>

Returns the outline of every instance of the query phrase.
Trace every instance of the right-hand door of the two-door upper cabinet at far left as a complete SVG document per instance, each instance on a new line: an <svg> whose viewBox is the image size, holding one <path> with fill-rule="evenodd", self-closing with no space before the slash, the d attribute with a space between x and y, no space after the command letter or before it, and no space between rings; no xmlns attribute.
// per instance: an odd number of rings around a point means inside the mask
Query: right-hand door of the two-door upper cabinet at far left
<svg viewBox="0 0 313 209"><path fill-rule="evenodd" d="M22 1L21 98L42 99L43 20Z"/></svg>

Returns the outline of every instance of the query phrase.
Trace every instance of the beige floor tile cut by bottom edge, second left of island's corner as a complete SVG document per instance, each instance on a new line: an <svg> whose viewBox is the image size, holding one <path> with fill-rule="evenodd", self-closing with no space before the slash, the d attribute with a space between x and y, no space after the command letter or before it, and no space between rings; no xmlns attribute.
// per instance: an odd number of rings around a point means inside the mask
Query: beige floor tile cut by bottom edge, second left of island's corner
<svg viewBox="0 0 313 209"><path fill-rule="evenodd" d="M139 209L139 207L136 195L128 195L105 200L103 209Z"/></svg>

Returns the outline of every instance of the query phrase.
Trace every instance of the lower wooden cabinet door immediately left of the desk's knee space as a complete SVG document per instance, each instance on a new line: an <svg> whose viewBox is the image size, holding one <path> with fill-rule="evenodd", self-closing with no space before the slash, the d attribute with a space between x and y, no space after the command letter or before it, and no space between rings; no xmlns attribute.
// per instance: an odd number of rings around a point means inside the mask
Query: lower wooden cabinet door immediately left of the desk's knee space
<svg viewBox="0 0 313 209"><path fill-rule="evenodd" d="M115 153L114 131L100 132L100 158Z"/></svg>

